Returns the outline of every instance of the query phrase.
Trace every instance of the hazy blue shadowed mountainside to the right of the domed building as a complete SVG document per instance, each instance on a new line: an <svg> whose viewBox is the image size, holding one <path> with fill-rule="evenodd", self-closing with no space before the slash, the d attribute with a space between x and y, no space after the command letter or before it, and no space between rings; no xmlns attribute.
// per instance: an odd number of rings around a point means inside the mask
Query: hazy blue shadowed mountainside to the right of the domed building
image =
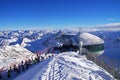
<svg viewBox="0 0 120 80"><path fill-rule="evenodd" d="M104 53L100 56L109 64L120 67L120 31L91 32L104 40Z"/></svg>

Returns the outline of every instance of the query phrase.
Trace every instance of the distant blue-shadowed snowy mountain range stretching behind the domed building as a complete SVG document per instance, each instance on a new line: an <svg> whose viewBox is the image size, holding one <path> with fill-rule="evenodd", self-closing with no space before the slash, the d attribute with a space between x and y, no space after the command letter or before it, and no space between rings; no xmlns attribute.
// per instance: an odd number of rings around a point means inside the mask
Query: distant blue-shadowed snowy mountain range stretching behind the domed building
<svg viewBox="0 0 120 80"><path fill-rule="evenodd" d="M117 25L118 26L118 25ZM88 28L89 29L89 28ZM120 60L120 31L105 31L101 28L81 29L83 32L90 32L105 41L105 53L103 55L109 58ZM63 29L65 34L77 34L79 29ZM59 30L17 30L0 31L0 46L20 45L29 51L36 52L44 50L50 43L53 45L55 37L59 35ZM58 32L58 33L57 33ZM57 34L56 34L57 33ZM115 52L115 54L114 54Z"/></svg>

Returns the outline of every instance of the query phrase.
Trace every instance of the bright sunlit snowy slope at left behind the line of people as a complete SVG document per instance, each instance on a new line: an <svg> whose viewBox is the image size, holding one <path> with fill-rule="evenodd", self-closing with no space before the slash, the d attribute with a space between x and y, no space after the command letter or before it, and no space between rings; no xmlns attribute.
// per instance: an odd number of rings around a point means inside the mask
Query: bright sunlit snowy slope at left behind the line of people
<svg viewBox="0 0 120 80"><path fill-rule="evenodd" d="M34 58L36 55L27 49L19 46L2 46L0 47L0 68L7 68L14 64L20 63L22 60Z"/></svg>

